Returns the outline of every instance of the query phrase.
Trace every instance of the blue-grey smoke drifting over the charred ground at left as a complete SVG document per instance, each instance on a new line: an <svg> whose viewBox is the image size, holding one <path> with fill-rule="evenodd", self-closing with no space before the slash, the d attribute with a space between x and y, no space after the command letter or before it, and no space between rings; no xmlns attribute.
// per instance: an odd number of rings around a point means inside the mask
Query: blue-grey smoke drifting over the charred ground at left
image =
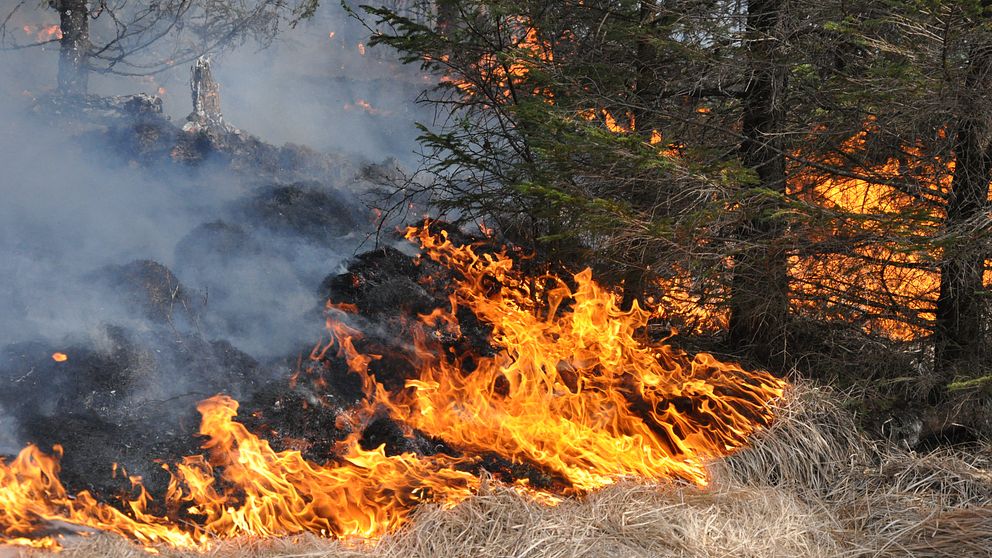
<svg viewBox="0 0 992 558"><path fill-rule="evenodd" d="M424 83L389 52L363 55L366 30L327 4L271 48L214 58L229 124L267 143L339 154L322 159L333 167L326 179L304 184L209 161L149 164L104 123L38 114L36 99L54 88L57 45L0 51L0 353L25 343L107 353L107 332L123 331L159 368L136 397L164 399L213 385L199 380L210 370L175 358L177 343L223 340L284 372L278 363L319 338L320 282L344 269L373 227L363 168L412 160ZM55 20L42 8L20 17L35 16L37 25ZM188 79L187 68L93 76L91 91L160 94L181 126ZM0 359L0 382L27 372L19 362ZM10 413L0 401L0 452L17 438Z"/></svg>

